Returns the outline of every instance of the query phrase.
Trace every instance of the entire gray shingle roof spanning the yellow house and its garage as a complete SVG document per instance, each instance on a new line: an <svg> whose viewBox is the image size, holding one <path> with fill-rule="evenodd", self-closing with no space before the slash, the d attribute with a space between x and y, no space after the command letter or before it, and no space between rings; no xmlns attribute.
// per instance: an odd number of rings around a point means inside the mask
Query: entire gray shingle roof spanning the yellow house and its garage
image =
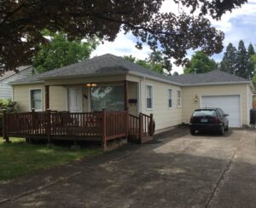
<svg viewBox="0 0 256 208"><path fill-rule="evenodd" d="M95 76L103 74L118 74L118 73L138 73L143 76L150 76L151 78L158 78L166 80L172 84L177 85L189 85L189 84L209 84L209 83L229 83L229 82L249 82L245 78L240 78L230 73L220 72L218 70L213 72L207 72L203 74L189 74L189 75L177 75L177 76L165 76L157 72L153 72L143 66L139 66L131 61L126 61L124 58L116 55L101 55L96 56L90 60L80 61L69 66L64 66L34 75L30 78L23 78L17 80L15 83L31 83L40 82L44 79L55 78L74 78L83 76Z"/></svg>

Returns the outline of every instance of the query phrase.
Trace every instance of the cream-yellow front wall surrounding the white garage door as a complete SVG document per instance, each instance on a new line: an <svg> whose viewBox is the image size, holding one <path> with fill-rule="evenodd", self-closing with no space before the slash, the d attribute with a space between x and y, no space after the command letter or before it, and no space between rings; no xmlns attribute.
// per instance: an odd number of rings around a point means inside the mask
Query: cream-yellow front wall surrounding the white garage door
<svg viewBox="0 0 256 208"><path fill-rule="evenodd" d="M241 95L241 124L247 125L247 115L249 115L247 111L247 85L248 84L225 84L183 87L183 122L188 124L193 111L196 108L200 108L201 95ZM194 101L195 95L199 98L197 102Z"/></svg>

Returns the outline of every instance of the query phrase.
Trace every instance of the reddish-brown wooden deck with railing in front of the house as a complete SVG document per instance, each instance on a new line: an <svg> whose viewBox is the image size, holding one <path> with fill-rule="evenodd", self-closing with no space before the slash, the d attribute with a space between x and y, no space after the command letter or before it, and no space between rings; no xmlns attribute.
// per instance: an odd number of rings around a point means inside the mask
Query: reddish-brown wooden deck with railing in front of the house
<svg viewBox="0 0 256 208"><path fill-rule="evenodd" d="M69 113L28 112L3 113L3 138L10 136L52 140L107 142L127 137L131 142L142 143L152 138L153 115L129 115L123 112Z"/></svg>

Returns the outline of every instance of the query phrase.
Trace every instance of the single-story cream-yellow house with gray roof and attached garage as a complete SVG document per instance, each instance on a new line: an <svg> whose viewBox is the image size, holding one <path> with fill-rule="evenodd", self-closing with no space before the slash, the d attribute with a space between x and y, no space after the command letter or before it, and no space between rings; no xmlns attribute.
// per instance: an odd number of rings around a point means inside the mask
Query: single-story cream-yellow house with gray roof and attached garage
<svg viewBox="0 0 256 208"><path fill-rule="evenodd" d="M101 55L12 83L21 112L129 109L154 114L155 130L189 123L195 108L221 107L230 127L249 124L253 84L218 70L165 76L115 55Z"/></svg>

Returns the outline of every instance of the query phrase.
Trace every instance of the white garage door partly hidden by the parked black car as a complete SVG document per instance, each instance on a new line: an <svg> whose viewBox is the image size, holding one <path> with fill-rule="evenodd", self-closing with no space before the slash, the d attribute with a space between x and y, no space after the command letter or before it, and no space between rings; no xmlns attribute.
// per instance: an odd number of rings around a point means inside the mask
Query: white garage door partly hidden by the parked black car
<svg viewBox="0 0 256 208"><path fill-rule="evenodd" d="M201 107L219 107L229 114L230 127L241 127L240 95L201 96Z"/></svg>

